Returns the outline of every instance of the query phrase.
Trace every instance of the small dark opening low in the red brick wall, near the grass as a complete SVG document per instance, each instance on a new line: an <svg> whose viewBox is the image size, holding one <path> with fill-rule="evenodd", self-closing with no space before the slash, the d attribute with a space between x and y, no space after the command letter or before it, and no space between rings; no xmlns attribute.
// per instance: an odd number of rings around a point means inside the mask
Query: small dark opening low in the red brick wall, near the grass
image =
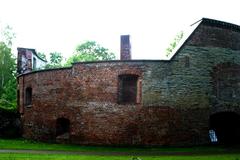
<svg viewBox="0 0 240 160"><path fill-rule="evenodd" d="M66 118L58 118L56 123L56 136L69 133L70 121Z"/></svg>

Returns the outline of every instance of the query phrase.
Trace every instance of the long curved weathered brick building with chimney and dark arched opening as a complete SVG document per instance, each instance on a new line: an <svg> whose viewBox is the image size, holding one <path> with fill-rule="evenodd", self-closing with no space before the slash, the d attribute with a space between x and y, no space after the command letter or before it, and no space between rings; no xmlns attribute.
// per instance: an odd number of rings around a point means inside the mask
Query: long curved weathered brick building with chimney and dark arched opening
<svg viewBox="0 0 240 160"><path fill-rule="evenodd" d="M240 26L203 18L169 60L74 63L18 76L23 136L91 145L240 141Z"/></svg>

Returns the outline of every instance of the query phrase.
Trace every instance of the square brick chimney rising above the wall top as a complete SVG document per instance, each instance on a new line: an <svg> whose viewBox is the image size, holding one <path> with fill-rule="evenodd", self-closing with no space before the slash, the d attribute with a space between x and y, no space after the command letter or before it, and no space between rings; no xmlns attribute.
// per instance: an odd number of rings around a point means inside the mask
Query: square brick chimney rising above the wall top
<svg viewBox="0 0 240 160"><path fill-rule="evenodd" d="M131 60L131 43L130 35L121 36L121 60Z"/></svg>

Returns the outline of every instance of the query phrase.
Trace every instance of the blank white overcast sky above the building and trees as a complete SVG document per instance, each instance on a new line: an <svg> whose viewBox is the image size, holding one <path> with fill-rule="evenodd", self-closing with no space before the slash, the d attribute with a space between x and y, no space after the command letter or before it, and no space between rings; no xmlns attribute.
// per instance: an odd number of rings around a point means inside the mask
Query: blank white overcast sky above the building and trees
<svg viewBox="0 0 240 160"><path fill-rule="evenodd" d="M160 59L175 35L202 17L240 25L238 0L0 0L0 24L16 33L15 47L69 57L94 40L119 57L130 34L134 59Z"/></svg>

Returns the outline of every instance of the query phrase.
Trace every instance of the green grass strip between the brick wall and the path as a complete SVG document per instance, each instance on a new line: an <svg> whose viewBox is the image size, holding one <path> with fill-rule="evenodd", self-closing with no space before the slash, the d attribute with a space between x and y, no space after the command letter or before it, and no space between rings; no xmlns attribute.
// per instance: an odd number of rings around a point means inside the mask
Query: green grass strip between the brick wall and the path
<svg viewBox="0 0 240 160"><path fill-rule="evenodd" d="M50 144L29 141L25 139L0 139L0 149L27 149L27 150L53 150L53 151L81 151L81 152L191 152L191 153L222 153L228 152L225 147L103 147L80 146L66 144ZM231 152L240 153L240 148L231 149Z"/></svg>

